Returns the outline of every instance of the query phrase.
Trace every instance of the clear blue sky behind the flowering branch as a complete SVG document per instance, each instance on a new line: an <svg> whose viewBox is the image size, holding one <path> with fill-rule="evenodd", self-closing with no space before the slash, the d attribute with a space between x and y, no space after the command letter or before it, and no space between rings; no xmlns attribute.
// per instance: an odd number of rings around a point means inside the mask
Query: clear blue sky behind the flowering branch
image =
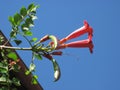
<svg viewBox="0 0 120 90"><path fill-rule="evenodd" d="M65 37L81 27L83 20L94 29L93 54L88 49L65 49L63 56L55 57L62 72L58 82L53 82L50 61L36 61L36 74L45 90L120 90L120 0L1 0L0 29L7 37L11 30L8 16L31 2L40 5L35 37ZM20 55L28 65L29 52Z"/></svg>

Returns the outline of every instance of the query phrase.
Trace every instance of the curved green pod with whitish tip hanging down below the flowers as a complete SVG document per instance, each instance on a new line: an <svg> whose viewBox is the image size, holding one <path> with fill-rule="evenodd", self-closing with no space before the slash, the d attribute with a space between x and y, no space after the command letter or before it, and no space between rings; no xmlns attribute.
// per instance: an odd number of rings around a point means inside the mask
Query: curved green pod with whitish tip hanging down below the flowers
<svg viewBox="0 0 120 90"><path fill-rule="evenodd" d="M54 68L54 79L55 79L54 81L56 82L60 79L61 71L55 59L52 59L52 63L53 63L53 68Z"/></svg>

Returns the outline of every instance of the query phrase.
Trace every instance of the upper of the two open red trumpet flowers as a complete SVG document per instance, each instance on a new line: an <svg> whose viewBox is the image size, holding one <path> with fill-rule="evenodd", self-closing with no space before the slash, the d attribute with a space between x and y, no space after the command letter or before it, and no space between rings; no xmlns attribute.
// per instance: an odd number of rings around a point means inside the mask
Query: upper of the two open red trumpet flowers
<svg viewBox="0 0 120 90"><path fill-rule="evenodd" d="M79 37L80 35L83 35L85 33L88 33L88 34L91 34L93 33L93 29L92 27L89 26L88 22L87 21L84 21L84 26L75 30L74 32L72 32L71 34L69 34L67 37L61 39L59 41L60 44L63 44L64 42L70 40L70 39L73 39L73 38L76 38L76 37Z"/></svg>

